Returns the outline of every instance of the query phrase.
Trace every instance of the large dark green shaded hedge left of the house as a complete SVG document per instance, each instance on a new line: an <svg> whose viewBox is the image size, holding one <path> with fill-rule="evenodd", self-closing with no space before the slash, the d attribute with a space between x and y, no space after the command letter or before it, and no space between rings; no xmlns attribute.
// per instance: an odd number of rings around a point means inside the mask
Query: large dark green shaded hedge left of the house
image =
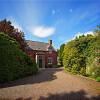
<svg viewBox="0 0 100 100"><path fill-rule="evenodd" d="M0 33L0 83L36 74L38 68L16 40Z"/></svg>

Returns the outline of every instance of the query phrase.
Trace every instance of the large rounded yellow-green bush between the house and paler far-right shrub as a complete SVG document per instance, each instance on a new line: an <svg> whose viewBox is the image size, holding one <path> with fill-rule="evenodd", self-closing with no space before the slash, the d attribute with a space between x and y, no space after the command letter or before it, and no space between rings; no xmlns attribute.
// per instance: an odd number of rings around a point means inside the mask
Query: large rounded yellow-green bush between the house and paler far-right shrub
<svg viewBox="0 0 100 100"><path fill-rule="evenodd" d="M93 35L82 35L68 42L64 48L65 70L86 75L88 58L94 58L95 41L96 37Z"/></svg>

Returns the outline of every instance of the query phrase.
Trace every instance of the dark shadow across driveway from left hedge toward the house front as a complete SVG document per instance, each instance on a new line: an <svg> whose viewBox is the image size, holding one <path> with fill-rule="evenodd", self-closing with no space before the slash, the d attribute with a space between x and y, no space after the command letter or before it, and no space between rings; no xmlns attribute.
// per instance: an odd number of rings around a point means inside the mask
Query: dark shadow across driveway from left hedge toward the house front
<svg viewBox="0 0 100 100"><path fill-rule="evenodd" d="M0 88L7 88L18 85L41 83L57 79L56 72L62 71L62 68L46 68L42 69L37 75L29 76L16 81L0 84Z"/></svg>

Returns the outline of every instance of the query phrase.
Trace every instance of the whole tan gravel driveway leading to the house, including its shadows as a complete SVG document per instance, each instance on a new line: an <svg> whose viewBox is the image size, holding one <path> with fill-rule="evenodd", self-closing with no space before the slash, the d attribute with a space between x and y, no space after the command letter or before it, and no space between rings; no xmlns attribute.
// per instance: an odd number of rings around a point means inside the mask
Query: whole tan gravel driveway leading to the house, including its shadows
<svg viewBox="0 0 100 100"><path fill-rule="evenodd" d="M0 85L0 100L100 100L100 82L47 68Z"/></svg>

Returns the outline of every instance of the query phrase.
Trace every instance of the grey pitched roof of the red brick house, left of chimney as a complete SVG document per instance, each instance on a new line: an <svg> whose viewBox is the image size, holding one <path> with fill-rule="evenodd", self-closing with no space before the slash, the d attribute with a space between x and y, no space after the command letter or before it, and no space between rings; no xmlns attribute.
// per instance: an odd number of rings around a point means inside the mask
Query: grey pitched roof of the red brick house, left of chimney
<svg viewBox="0 0 100 100"><path fill-rule="evenodd" d="M48 51L48 43L44 43L44 42L38 42L38 41L30 41L27 40L27 45L29 46L30 49L32 50L39 50L39 51ZM52 47L52 49L54 50L54 48Z"/></svg>

